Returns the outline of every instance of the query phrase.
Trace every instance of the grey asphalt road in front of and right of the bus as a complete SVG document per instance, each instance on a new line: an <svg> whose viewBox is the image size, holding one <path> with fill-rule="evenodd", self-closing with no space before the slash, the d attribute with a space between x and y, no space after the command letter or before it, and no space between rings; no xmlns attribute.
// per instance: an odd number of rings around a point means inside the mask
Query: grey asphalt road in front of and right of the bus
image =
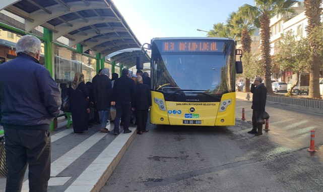
<svg viewBox="0 0 323 192"><path fill-rule="evenodd" d="M322 191L323 115L267 105L271 130L253 136L250 105L234 127L149 125L101 191Z"/></svg>

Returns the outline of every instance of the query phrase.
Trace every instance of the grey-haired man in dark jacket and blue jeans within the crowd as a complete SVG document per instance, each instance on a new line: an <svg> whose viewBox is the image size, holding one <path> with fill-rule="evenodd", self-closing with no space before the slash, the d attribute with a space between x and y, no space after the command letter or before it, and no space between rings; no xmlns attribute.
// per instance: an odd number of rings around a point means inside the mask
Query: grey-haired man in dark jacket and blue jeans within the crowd
<svg viewBox="0 0 323 192"><path fill-rule="evenodd" d="M95 107L96 110L98 110L101 123L101 132L110 132L106 128L108 112L111 107L110 103L112 99L112 86L109 75L109 69L104 68L101 70L101 75L98 76L92 83Z"/></svg>

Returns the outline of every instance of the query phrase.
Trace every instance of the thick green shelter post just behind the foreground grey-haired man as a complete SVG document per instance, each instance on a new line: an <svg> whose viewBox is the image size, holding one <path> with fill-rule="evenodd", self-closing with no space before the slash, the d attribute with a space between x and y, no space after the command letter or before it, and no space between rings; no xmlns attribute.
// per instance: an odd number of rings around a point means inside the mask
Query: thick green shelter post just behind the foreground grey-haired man
<svg viewBox="0 0 323 192"><path fill-rule="evenodd" d="M45 67L53 76L53 64L52 64L52 49L51 42L53 41L53 32L47 28L44 28L44 51L45 51ZM50 130L54 130L54 122L50 123Z"/></svg>

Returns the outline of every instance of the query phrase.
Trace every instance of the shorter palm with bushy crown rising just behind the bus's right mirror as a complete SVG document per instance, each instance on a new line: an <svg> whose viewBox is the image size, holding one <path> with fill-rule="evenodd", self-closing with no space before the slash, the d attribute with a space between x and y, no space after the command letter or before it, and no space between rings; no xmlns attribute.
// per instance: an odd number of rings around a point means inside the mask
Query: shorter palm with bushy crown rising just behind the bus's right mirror
<svg viewBox="0 0 323 192"><path fill-rule="evenodd" d="M239 7L238 12L232 12L229 15L227 23L232 29L233 33L240 38L240 43L242 45L242 51L245 54L250 54L251 52L251 36L255 31L254 23L257 23L255 19L255 13L250 12L251 10L244 10ZM243 66L249 65L249 63L243 63ZM250 78L244 75L244 87L245 92L250 92Z"/></svg>

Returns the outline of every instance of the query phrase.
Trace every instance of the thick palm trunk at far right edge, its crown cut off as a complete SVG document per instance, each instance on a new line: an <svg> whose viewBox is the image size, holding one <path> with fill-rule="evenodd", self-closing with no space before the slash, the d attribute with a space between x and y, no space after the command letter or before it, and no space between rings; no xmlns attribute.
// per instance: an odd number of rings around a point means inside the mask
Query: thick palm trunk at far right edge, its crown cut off
<svg viewBox="0 0 323 192"><path fill-rule="evenodd" d="M320 98L319 93L319 65L320 65L320 55L319 55L319 44L315 43L315 35L313 33L315 27L321 25L320 15L322 14L322 8L320 7L322 0L305 0L305 15L307 17L306 32L310 43L311 50L311 61L309 69L309 91L308 97L310 98Z"/></svg>

